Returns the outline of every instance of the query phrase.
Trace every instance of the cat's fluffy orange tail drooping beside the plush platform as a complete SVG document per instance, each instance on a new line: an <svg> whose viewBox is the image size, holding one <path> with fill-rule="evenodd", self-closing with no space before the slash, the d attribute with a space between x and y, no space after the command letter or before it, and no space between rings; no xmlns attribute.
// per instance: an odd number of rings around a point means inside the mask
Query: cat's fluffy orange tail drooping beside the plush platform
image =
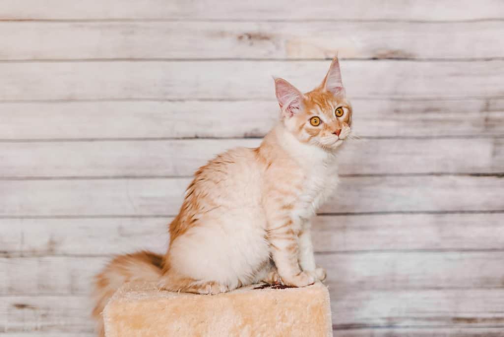
<svg viewBox="0 0 504 337"><path fill-rule="evenodd" d="M105 336L101 313L108 300L125 282L157 281L161 276L163 257L148 251L119 255L95 276L93 317L98 321L98 334Z"/></svg>

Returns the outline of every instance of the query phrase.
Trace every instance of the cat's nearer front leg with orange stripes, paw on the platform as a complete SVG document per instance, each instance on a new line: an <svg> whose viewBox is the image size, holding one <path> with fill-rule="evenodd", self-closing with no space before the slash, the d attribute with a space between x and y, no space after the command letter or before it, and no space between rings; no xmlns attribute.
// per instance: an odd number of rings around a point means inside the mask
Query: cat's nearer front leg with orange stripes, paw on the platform
<svg viewBox="0 0 504 337"><path fill-rule="evenodd" d="M288 286L304 287L315 282L316 278L299 267L299 246L297 233L290 217L268 221L268 240L271 255L282 282Z"/></svg>

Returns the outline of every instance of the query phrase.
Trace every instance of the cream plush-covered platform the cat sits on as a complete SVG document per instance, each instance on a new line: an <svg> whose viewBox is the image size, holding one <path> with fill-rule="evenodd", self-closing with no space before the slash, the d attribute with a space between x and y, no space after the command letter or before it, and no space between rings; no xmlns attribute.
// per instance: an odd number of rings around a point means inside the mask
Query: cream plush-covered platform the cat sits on
<svg viewBox="0 0 504 337"><path fill-rule="evenodd" d="M103 312L106 336L332 336L327 288L283 287L195 295L127 284Z"/></svg>

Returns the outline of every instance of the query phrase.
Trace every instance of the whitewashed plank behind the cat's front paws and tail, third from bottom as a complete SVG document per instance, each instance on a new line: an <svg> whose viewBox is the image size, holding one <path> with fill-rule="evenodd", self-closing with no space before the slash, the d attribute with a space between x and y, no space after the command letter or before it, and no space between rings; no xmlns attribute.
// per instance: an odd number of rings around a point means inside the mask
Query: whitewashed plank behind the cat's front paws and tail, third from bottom
<svg viewBox="0 0 504 337"><path fill-rule="evenodd" d="M499 288L502 252L371 252L316 256L327 285L342 293L376 290ZM0 258L0 296L86 295L105 257ZM335 298L333 298L335 301ZM336 299L337 301L337 299Z"/></svg>

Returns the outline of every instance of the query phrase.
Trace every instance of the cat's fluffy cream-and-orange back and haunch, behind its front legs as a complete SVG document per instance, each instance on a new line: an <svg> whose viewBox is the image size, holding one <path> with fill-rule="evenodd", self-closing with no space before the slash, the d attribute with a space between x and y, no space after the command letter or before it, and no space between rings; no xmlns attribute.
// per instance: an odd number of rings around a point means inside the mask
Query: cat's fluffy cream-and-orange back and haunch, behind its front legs
<svg viewBox="0 0 504 337"><path fill-rule="evenodd" d="M269 260L256 152L234 148L196 172L170 224L172 270L236 288Z"/></svg>

